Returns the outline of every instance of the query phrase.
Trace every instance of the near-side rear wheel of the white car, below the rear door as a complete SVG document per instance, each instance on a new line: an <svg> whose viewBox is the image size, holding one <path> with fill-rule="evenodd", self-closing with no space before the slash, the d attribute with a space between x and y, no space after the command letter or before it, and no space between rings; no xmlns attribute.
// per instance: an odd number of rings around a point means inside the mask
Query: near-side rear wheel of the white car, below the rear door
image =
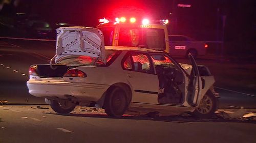
<svg viewBox="0 0 256 143"><path fill-rule="evenodd" d="M109 116L122 116L127 109L125 91L119 87L111 88L106 94L104 109Z"/></svg>

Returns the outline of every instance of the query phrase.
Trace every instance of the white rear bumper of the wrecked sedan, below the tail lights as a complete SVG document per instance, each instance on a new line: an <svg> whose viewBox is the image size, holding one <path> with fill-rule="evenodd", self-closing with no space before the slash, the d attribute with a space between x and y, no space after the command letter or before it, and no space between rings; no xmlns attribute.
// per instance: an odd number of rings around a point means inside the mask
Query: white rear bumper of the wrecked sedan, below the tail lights
<svg viewBox="0 0 256 143"><path fill-rule="evenodd" d="M58 97L66 99L67 95L88 101L98 101L109 85L79 82L27 81L29 93L36 97Z"/></svg>

